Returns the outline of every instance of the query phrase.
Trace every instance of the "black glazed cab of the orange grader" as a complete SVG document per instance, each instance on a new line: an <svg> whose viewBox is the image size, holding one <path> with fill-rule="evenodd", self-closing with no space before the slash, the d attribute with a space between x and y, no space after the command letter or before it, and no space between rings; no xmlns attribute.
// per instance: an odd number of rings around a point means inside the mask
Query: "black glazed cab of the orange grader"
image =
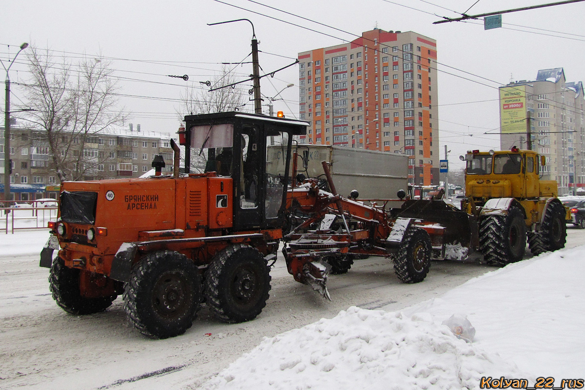
<svg viewBox="0 0 585 390"><path fill-rule="evenodd" d="M305 134L307 122L264 115L223 112L185 116L179 143L185 146L185 165L191 175L223 178L230 194L216 202L233 208L233 229L282 226L290 171L292 136ZM284 157L285 166L274 170L268 146Z"/></svg>

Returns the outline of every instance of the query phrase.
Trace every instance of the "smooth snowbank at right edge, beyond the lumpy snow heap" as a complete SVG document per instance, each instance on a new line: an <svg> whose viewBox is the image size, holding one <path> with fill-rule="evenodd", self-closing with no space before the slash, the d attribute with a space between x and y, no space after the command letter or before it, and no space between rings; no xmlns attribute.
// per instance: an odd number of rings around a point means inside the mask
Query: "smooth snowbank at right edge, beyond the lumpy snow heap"
<svg viewBox="0 0 585 390"><path fill-rule="evenodd" d="M471 279L404 312L428 312L435 322L463 313L477 330L477 347L535 377L582 378L584 274L585 246L559 250Z"/></svg>

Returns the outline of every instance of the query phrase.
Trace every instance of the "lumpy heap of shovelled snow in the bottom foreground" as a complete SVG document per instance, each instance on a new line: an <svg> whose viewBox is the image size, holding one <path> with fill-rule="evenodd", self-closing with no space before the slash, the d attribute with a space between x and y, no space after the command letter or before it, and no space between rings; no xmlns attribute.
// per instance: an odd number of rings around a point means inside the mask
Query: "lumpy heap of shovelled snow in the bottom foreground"
<svg viewBox="0 0 585 390"><path fill-rule="evenodd" d="M457 339L428 314L355 306L264 341L204 389L477 388L481 377L526 378L514 364Z"/></svg>

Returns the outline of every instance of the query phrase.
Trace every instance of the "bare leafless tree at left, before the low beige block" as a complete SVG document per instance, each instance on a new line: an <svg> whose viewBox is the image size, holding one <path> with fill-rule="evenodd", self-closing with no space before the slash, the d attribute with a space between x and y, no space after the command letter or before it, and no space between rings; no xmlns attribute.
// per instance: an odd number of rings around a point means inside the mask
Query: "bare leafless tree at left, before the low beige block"
<svg viewBox="0 0 585 390"><path fill-rule="evenodd" d="M98 155L97 134L126 119L117 108L111 61L100 55L71 64L34 47L27 54L32 77L25 86L25 103L35 110L30 120L44 133L36 143L49 147L48 168L59 182L94 175L106 158Z"/></svg>

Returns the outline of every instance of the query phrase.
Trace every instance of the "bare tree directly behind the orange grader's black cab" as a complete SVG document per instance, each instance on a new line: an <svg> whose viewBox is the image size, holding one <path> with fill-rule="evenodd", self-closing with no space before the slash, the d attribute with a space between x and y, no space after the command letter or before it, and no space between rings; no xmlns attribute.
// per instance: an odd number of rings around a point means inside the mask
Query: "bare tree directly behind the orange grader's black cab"
<svg viewBox="0 0 585 390"><path fill-rule="evenodd" d="M214 77L209 88L225 88L215 89L215 91L210 92L206 88L199 87L199 85L192 85L191 88L187 89L185 94L181 94L182 103L180 109L177 111L180 122L183 122L185 115L248 111L245 109L246 103L249 102L247 92L243 91L239 85L226 87L237 81L228 68L224 66L222 67L221 74ZM203 172L206 161L207 156L205 154L191 154L191 168L195 171Z"/></svg>

